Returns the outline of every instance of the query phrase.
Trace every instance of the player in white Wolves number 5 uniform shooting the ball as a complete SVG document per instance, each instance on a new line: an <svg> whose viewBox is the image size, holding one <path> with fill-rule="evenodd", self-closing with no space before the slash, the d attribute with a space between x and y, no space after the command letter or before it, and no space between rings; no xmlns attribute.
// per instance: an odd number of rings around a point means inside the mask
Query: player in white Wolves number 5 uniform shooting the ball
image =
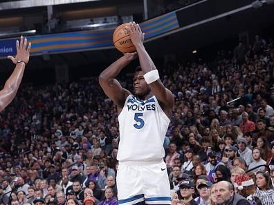
<svg viewBox="0 0 274 205"><path fill-rule="evenodd" d="M163 142L172 117L174 97L163 86L158 70L145 50L140 26L130 23L129 33L137 52L126 53L99 77L100 86L118 108L118 202L171 204ZM137 55L140 67L134 75L132 95L115 78Z"/></svg>

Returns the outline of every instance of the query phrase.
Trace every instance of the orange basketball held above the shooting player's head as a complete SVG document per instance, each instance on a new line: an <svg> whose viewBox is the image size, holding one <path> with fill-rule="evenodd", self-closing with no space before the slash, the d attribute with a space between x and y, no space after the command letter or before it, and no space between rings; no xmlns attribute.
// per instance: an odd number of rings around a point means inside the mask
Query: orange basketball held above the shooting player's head
<svg viewBox="0 0 274 205"><path fill-rule="evenodd" d="M134 44L131 42L128 29L129 23L123 23L113 33L114 46L122 53L134 52L136 50Z"/></svg>

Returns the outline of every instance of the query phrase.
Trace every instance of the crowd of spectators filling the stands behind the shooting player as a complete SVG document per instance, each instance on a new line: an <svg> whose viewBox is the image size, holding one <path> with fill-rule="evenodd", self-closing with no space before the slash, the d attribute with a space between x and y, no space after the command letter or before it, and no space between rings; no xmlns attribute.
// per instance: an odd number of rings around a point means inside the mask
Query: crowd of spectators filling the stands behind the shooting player
<svg viewBox="0 0 274 205"><path fill-rule="evenodd" d="M161 70L176 99L163 144L172 205L274 204L273 49L256 36L219 52L217 66ZM21 86L0 115L0 204L118 204L118 129L96 77Z"/></svg>

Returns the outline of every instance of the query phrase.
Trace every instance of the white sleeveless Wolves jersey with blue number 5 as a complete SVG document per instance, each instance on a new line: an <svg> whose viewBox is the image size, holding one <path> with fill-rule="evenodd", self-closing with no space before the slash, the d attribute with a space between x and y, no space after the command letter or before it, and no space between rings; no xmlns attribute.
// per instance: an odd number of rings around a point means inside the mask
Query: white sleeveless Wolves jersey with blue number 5
<svg viewBox="0 0 274 205"><path fill-rule="evenodd" d="M163 142L170 119L155 96L139 101L129 95L118 117L119 162L161 161L165 156Z"/></svg>

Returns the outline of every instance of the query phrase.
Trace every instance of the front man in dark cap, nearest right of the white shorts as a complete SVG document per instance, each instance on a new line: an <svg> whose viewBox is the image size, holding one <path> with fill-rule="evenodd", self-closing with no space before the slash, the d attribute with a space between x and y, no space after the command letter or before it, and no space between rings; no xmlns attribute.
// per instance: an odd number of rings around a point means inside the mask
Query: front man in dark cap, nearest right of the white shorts
<svg viewBox="0 0 274 205"><path fill-rule="evenodd" d="M197 202L193 199L194 194L194 184L190 180L185 180L179 185L180 195L187 201L190 205L197 205Z"/></svg>

